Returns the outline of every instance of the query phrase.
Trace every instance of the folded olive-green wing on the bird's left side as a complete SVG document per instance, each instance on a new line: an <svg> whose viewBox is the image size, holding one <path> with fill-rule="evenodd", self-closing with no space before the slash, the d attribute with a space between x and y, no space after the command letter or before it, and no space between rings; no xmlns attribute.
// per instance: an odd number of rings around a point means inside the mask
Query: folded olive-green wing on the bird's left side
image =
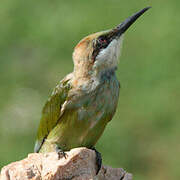
<svg viewBox="0 0 180 180"><path fill-rule="evenodd" d="M69 80L65 78L60 81L42 110L42 118L40 120L34 152L39 152L45 138L59 121L62 105L66 101L68 92L71 89Z"/></svg>

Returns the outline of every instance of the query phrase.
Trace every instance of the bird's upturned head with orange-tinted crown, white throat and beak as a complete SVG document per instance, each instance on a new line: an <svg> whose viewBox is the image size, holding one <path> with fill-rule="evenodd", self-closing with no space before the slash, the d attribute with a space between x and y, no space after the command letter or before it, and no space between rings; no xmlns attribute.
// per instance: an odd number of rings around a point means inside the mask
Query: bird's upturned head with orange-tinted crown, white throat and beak
<svg viewBox="0 0 180 180"><path fill-rule="evenodd" d="M142 9L111 30L83 38L73 53L74 72L77 76L91 76L108 69L116 69L123 34L149 8Z"/></svg>

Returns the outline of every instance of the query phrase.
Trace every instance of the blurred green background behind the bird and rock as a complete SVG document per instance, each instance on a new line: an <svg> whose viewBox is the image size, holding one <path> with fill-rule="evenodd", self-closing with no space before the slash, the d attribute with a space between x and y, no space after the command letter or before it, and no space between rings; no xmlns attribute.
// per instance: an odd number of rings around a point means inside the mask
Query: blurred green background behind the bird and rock
<svg viewBox="0 0 180 180"><path fill-rule="evenodd" d="M180 179L179 0L1 0L0 167L33 151L41 109L73 47L153 6L126 33L119 105L97 144L134 180Z"/></svg>

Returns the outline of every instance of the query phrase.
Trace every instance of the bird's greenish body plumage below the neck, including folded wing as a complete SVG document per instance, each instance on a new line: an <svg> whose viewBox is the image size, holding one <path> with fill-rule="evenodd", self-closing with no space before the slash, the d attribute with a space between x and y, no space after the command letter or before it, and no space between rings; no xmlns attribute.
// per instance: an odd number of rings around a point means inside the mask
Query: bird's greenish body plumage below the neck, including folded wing
<svg viewBox="0 0 180 180"><path fill-rule="evenodd" d="M71 79L62 80L43 108L35 152L93 147L115 113L118 96L114 73L104 74L96 85L89 83L88 89L77 90Z"/></svg>

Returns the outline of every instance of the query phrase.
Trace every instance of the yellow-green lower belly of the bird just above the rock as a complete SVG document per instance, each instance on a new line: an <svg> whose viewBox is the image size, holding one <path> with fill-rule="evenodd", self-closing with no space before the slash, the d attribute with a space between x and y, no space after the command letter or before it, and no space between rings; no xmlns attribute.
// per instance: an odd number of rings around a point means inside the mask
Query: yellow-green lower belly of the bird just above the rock
<svg viewBox="0 0 180 180"><path fill-rule="evenodd" d="M69 116L67 119L69 123L60 123L52 131L52 136L51 133L49 134L48 139L52 139L52 142L63 150L80 146L91 148L96 144L109 120L103 111L98 114L91 117L87 115L86 119L82 120L76 119L78 112L71 113L71 117Z"/></svg>

